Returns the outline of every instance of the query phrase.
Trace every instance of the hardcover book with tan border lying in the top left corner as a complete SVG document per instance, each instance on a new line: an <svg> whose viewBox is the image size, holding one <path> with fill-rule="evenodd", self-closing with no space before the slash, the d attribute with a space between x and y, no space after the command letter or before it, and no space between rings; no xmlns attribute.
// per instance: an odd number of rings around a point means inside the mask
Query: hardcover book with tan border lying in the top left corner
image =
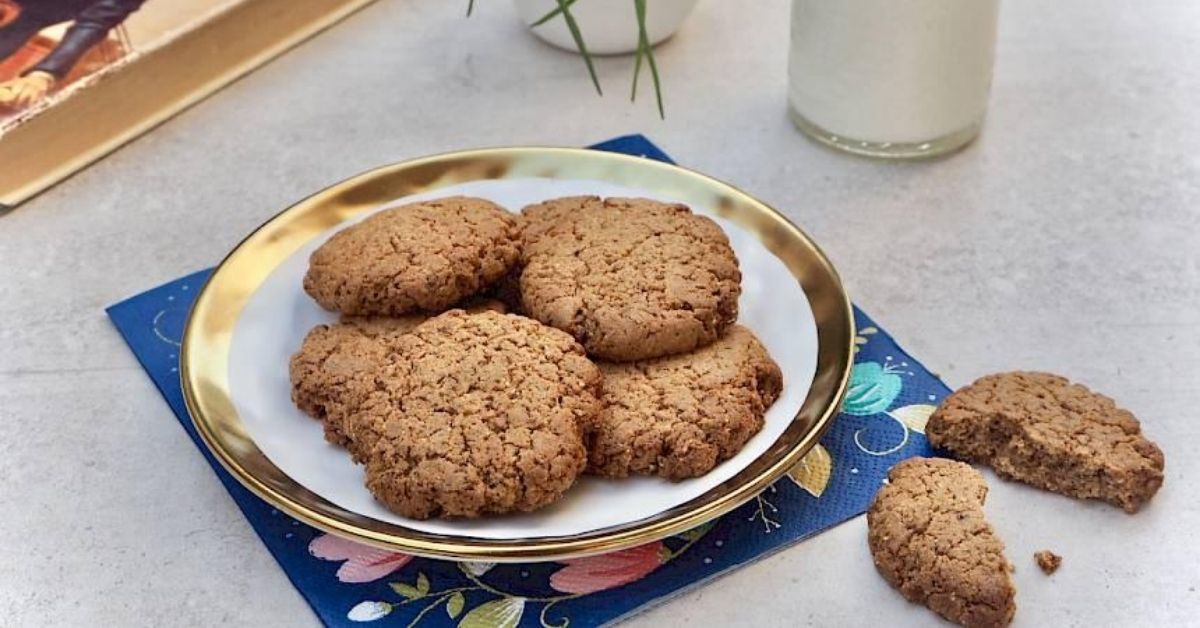
<svg viewBox="0 0 1200 628"><path fill-rule="evenodd" d="M0 0L0 211L371 0Z"/></svg>

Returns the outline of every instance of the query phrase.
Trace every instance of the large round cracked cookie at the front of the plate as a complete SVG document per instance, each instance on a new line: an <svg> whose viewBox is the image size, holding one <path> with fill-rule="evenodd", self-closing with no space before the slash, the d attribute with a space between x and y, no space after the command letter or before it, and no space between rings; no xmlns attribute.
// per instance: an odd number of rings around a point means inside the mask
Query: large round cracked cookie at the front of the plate
<svg viewBox="0 0 1200 628"><path fill-rule="evenodd" d="M600 381L563 331L454 310L396 340L347 427L367 489L401 515L535 510L583 472Z"/></svg>

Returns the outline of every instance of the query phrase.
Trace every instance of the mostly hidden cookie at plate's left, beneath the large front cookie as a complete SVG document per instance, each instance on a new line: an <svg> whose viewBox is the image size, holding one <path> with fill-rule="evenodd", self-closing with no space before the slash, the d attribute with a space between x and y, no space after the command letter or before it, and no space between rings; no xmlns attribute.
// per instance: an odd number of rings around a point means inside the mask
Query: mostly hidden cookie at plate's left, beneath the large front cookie
<svg viewBox="0 0 1200 628"><path fill-rule="evenodd" d="M468 312L504 312L504 304L492 299L468 300ZM325 426L325 438L361 456L342 427L346 403L361 399L373 388L374 372L382 366L391 342L428 319L425 315L398 317L342 316L331 325L317 325L288 364L292 401Z"/></svg>

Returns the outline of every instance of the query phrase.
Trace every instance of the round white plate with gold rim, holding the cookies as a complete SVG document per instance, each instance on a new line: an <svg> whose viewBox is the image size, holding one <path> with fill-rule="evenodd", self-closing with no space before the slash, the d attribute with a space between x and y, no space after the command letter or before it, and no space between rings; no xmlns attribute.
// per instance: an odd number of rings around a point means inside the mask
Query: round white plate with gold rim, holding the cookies
<svg viewBox="0 0 1200 628"><path fill-rule="evenodd" d="M780 363L784 396L767 426L712 473L586 478L535 513L414 521L389 513L362 471L324 442L288 399L287 359L334 315L302 289L308 253L346 223L402 202L450 195L510 210L557 196L638 196L689 204L730 235L743 271L740 322ZM185 333L182 382L208 447L247 488L323 530L410 554L562 560L648 543L719 516L779 478L835 415L852 360L853 319L836 273L780 214L704 175L582 149L455 152L384 167L326 189L248 235L200 292Z"/></svg>

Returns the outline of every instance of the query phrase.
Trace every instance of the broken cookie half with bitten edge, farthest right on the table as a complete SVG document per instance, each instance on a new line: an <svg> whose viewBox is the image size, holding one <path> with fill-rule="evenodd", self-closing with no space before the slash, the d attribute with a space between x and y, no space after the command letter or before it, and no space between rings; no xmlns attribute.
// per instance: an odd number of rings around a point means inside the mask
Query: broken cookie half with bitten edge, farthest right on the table
<svg viewBox="0 0 1200 628"><path fill-rule="evenodd" d="M1001 477L1134 513L1163 485L1163 451L1111 399L1063 377L989 375L948 396L925 435Z"/></svg>

